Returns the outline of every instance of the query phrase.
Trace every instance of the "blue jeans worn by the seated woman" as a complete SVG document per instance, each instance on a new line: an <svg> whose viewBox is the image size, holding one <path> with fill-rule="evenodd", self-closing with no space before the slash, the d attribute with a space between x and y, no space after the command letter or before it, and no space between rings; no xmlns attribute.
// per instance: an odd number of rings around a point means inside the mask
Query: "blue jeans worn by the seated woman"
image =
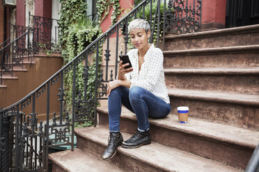
<svg viewBox="0 0 259 172"><path fill-rule="evenodd" d="M166 103L143 87L116 87L111 90L108 97L110 132L120 131L121 104L136 114L140 131L148 130L148 117L164 118L171 112L170 103Z"/></svg>

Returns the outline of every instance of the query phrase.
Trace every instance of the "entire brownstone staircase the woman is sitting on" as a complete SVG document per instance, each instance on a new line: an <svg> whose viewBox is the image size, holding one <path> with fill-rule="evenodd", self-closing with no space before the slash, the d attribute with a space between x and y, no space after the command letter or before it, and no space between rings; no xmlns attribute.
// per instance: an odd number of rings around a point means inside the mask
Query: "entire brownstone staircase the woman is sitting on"
<svg viewBox="0 0 259 172"><path fill-rule="evenodd" d="M70 164L91 156L99 166L109 163L107 171L244 171L259 143L258 40L259 25L167 36L164 71L172 112L150 119L152 144L120 146L116 156L103 161L109 117L107 107L98 107L100 126L77 129L78 150L66 151L61 161L62 153L49 155L56 160L53 166L73 171ZM176 115L182 105L190 109L185 124ZM123 107L120 123L124 139L130 138L135 115ZM77 152L83 159L65 160Z"/></svg>

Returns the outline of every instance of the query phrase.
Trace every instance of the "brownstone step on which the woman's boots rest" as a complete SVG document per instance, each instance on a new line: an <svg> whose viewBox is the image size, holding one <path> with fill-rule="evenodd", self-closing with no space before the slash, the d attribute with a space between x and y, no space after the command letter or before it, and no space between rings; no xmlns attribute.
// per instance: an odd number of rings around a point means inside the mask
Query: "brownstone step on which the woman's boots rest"
<svg viewBox="0 0 259 172"><path fill-rule="evenodd" d="M100 157L107 146L108 128L78 128L77 146L86 152L90 151ZM131 135L123 132L124 140ZM118 147L117 154L109 160L125 171L155 172L155 171L239 171L233 167L207 160L203 157L182 150L164 146L152 141L148 146L127 149ZM198 164L198 165L197 165Z"/></svg>

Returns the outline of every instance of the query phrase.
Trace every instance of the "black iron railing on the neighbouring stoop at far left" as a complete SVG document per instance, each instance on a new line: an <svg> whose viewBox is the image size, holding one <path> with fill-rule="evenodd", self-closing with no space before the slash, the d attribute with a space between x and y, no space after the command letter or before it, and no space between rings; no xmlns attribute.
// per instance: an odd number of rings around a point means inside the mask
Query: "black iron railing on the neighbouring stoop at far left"
<svg viewBox="0 0 259 172"><path fill-rule="evenodd" d="M34 54L59 52L57 21L33 16L29 12L29 26L10 25L13 33L10 33L10 38L1 44L0 49L0 85L3 84L3 75L13 76L14 67L24 67L24 60L32 63Z"/></svg>

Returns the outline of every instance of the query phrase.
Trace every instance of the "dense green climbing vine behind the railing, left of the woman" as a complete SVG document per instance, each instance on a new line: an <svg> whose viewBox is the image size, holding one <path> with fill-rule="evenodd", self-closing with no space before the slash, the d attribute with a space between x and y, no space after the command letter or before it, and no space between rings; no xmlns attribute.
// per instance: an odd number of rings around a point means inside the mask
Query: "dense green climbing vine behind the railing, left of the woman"
<svg viewBox="0 0 259 172"><path fill-rule="evenodd" d="M64 64L70 62L74 57L86 49L86 46L93 42L101 33L100 24L97 19L91 19L86 17L87 4L84 0L60 0L61 10L60 10L60 20L58 21L60 29L60 44L61 53L64 59ZM101 46L100 46L101 47ZM102 49L99 49L100 57L102 56ZM86 90L87 97L92 95L94 99L95 92L95 55L92 55L93 62L88 65L88 89ZM98 62L101 65L101 58ZM82 74L84 73L84 65L79 63L76 69L76 94L79 90L84 90L84 78ZM100 71L98 71L100 73ZM65 95L65 106L67 110L70 110L72 105L72 84L73 84L73 74L70 71L65 75L64 87L67 91ZM76 101L77 101L76 96Z"/></svg>

